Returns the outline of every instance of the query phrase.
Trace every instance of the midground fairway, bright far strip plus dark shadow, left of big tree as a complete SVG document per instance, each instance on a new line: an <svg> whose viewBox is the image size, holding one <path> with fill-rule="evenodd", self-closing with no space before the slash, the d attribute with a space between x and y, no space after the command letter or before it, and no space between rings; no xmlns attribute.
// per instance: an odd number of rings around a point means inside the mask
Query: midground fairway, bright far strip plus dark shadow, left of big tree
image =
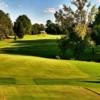
<svg viewBox="0 0 100 100"><path fill-rule="evenodd" d="M59 35L27 35L24 39L18 39L16 41L9 40L10 43L8 41L2 42L0 51L7 54L56 58L56 56L60 55L57 44L59 38Z"/></svg>

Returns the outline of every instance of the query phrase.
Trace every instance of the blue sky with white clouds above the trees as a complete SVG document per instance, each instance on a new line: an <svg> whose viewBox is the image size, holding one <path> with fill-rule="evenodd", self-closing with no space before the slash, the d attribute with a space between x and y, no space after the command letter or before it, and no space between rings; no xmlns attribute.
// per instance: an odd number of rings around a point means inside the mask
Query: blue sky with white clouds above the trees
<svg viewBox="0 0 100 100"><path fill-rule="evenodd" d="M100 5L100 0L91 0L92 4ZM19 15L27 15L32 23L43 23L53 20L56 10L62 8L62 4L70 5L70 0L0 0L0 10L9 13L12 22Z"/></svg>

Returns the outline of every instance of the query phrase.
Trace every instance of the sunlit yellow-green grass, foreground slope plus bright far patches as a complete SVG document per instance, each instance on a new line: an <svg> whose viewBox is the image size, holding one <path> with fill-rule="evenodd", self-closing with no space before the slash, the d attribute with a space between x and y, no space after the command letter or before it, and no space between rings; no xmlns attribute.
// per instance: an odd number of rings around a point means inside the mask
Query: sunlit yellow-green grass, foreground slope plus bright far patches
<svg viewBox="0 0 100 100"><path fill-rule="evenodd" d="M58 36L49 36L52 38ZM10 42L1 41L0 48L14 48ZM87 90L99 93L99 83L99 63L0 54L1 100L100 100Z"/></svg>

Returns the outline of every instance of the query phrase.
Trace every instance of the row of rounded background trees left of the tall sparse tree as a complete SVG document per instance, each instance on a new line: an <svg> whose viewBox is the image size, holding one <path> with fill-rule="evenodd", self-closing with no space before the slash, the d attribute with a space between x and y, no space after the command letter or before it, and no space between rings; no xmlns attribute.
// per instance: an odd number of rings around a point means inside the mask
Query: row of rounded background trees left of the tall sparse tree
<svg viewBox="0 0 100 100"><path fill-rule="evenodd" d="M48 34L65 34L62 28L47 20L46 25L32 24L27 15L20 15L14 23L12 23L9 14L0 10L0 39L9 38L9 35L14 35L15 39L23 38L25 34L35 35L45 31Z"/></svg>

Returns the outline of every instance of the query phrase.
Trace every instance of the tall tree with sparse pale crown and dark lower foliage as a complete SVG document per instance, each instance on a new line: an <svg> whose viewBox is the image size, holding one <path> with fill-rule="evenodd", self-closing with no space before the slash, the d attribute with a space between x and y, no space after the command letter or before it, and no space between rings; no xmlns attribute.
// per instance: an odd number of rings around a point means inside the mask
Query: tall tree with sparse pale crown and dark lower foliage
<svg viewBox="0 0 100 100"><path fill-rule="evenodd" d="M94 60L95 47L100 45L100 7L91 6L88 0L71 0L71 4L75 6L74 10L72 6L63 5L55 13L56 22L66 31L59 42L62 58L67 52L72 53L72 58L81 59L81 54L91 48Z"/></svg>

